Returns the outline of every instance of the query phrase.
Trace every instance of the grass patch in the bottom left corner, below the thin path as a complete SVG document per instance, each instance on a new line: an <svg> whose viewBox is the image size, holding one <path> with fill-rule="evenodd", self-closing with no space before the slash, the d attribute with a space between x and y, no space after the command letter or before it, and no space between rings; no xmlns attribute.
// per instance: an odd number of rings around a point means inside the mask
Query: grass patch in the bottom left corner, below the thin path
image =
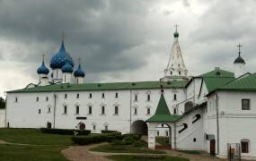
<svg viewBox="0 0 256 161"><path fill-rule="evenodd" d="M0 145L0 160L4 161L67 161L60 150L65 146Z"/></svg>

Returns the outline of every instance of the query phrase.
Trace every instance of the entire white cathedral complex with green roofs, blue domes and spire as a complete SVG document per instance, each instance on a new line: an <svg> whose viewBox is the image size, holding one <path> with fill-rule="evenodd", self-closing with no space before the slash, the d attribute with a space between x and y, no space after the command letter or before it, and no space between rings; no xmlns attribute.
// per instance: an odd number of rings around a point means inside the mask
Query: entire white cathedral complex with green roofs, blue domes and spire
<svg viewBox="0 0 256 161"><path fill-rule="evenodd" d="M62 39L49 65L42 60L38 83L7 92L4 126L141 133L148 148L166 136L174 149L256 158L256 73L245 72L241 46L234 72L216 67L188 76L177 30L173 37L163 78L106 83L84 82Z"/></svg>

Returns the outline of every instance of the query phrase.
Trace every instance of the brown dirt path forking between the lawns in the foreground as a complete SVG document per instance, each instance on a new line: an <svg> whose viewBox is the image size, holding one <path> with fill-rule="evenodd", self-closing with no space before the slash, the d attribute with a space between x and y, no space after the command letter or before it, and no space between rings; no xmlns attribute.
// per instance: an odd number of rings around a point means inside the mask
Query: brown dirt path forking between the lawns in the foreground
<svg viewBox="0 0 256 161"><path fill-rule="evenodd" d="M106 143L93 144L88 146L69 147L61 150L61 153L68 160L72 160L72 161L108 161L109 159L102 156L101 154L94 154L89 152L90 148L98 147L105 144Z"/></svg>

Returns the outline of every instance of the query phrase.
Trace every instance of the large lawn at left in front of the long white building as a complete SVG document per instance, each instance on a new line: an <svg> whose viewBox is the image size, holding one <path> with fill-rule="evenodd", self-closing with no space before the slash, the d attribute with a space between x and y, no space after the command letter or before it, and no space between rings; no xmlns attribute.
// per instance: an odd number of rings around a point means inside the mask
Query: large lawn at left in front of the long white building
<svg viewBox="0 0 256 161"><path fill-rule="evenodd" d="M37 145L70 145L69 135L40 132L40 129L0 129L0 140L7 142Z"/></svg>

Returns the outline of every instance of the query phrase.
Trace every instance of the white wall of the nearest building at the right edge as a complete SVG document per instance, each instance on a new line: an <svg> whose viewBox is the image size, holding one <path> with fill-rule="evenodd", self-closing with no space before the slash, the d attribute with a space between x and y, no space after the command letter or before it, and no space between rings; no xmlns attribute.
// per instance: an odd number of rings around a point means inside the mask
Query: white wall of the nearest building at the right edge
<svg viewBox="0 0 256 161"><path fill-rule="evenodd" d="M243 158L256 158L256 93L219 91L219 157L227 156L228 143L250 140L249 153ZM242 110L242 99L251 99L251 110ZM216 136L216 95L208 97L208 108L204 130ZM217 144L217 143L216 143Z"/></svg>

